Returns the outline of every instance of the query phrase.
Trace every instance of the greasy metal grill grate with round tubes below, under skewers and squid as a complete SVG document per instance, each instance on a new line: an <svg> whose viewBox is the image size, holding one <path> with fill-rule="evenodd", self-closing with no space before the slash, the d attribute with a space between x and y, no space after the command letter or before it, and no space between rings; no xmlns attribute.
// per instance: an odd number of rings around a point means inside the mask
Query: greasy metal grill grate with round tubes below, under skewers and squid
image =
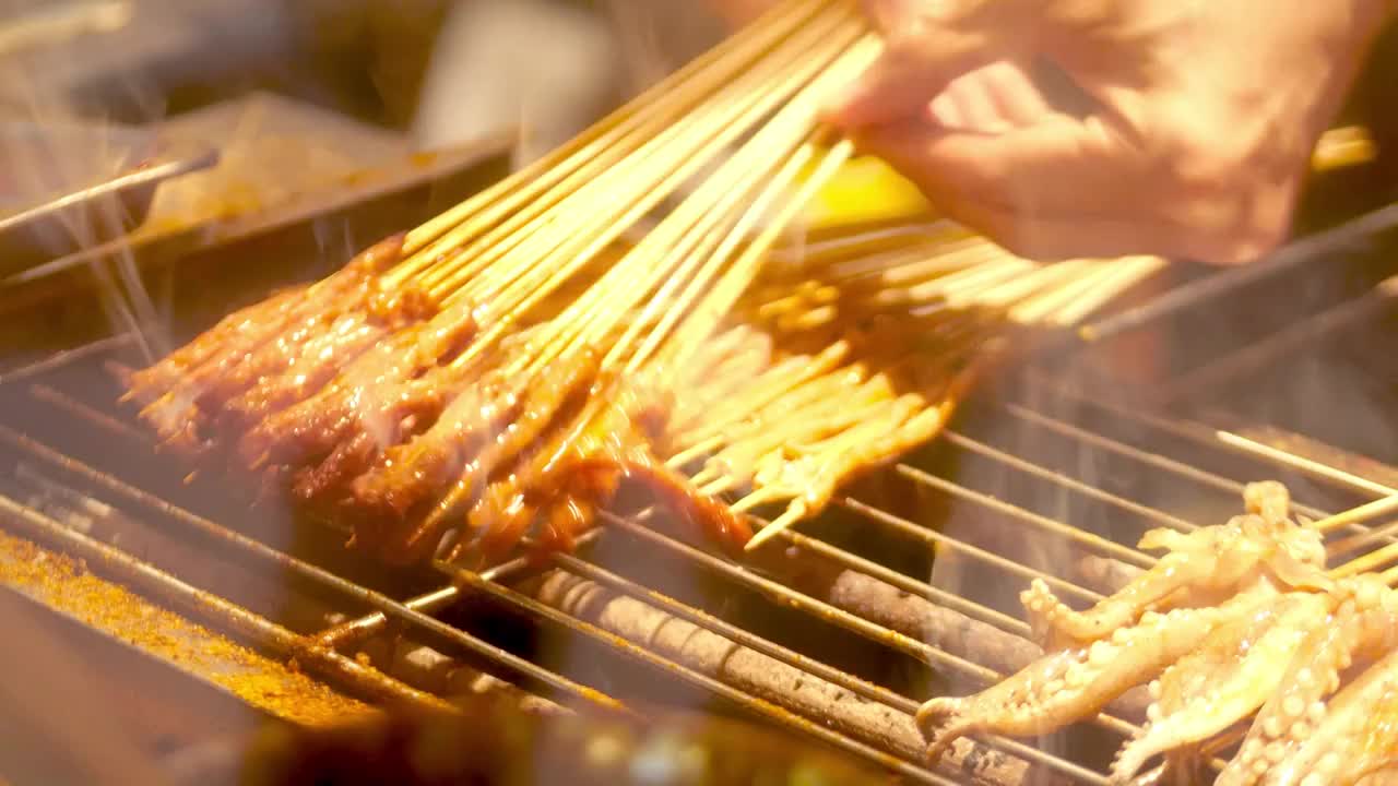
<svg viewBox="0 0 1398 786"><path fill-rule="evenodd" d="M1014 606L1032 578L1086 604L1151 564L1130 548L1141 531L1223 520L1250 480L1282 480L1313 517L1369 498L1206 428L1028 382L744 565L612 517L547 564L393 571L333 527L249 509L246 490L182 483L192 467L155 456L113 406L103 364L127 359L109 341L0 386L8 529L356 696L432 703L493 676L562 705L734 710L914 782L1104 783L1139 695L1037 745L981 738L952 769L917 764L923 699L1037 655Z"/></svg>

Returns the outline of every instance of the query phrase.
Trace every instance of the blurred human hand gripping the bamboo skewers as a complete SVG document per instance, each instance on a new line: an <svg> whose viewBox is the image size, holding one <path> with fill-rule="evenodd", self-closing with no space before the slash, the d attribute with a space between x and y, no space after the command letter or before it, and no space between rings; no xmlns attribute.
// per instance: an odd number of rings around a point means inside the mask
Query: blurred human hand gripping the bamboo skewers
<svg viewBox="0 0 1398 786"><path fill-rule="evenodd" d="M1037 259L1239 263L1289 229L1310 152L1395 0L864 0L878 63L829 119ZM1046 59L1093 99L1048 105Z"/></svg>

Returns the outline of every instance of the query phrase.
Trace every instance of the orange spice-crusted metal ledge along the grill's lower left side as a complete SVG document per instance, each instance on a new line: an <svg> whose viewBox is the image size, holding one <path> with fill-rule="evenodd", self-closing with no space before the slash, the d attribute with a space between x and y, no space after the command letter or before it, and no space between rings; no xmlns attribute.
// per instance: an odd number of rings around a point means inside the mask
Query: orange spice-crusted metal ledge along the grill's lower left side
<svg viewBox="0 0 1398 786"><path fill-rule="evenodd" d="M106 582L69 557L0 533L0 583L284 720L317 726L368 705Z"/></svg>

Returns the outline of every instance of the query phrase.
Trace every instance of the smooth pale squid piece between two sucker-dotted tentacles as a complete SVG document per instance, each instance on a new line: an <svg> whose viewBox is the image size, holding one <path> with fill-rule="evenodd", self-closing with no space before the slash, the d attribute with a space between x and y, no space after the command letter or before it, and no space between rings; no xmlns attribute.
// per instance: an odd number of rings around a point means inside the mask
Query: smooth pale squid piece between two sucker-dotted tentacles
<svg viewBox="0 0 1398 786"><path fill-rule="evenodd" d="M1197 745L1250 716L1281 684L1290 656L1324 624L1332 596L1285 596L1274 606L1220 624L1201 646L1152 684L1156 701L1141 734L1123 745L1113 783L1130 783L1146 761Z"/></svg>

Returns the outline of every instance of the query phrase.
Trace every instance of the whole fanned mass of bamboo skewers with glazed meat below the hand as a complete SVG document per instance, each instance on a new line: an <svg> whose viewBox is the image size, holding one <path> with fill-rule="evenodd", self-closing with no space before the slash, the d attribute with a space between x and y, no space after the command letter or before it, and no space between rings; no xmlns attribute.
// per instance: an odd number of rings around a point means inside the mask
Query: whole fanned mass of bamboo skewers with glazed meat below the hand
<svg viewBox="0 0 1398 786"><path fill-rule="evenodd" d="M391 561L493 559L530 530L569 548L629 483L723 545L761 543L935 436L1005 323L1071 323L1159 267L1040 267L946 225L781 264L853 152L819 108L879 46L851 0L788 0L540 162L133 373L127 399L168 449L256 473ZM751 538L741 512L783 501Z"/></svg>

